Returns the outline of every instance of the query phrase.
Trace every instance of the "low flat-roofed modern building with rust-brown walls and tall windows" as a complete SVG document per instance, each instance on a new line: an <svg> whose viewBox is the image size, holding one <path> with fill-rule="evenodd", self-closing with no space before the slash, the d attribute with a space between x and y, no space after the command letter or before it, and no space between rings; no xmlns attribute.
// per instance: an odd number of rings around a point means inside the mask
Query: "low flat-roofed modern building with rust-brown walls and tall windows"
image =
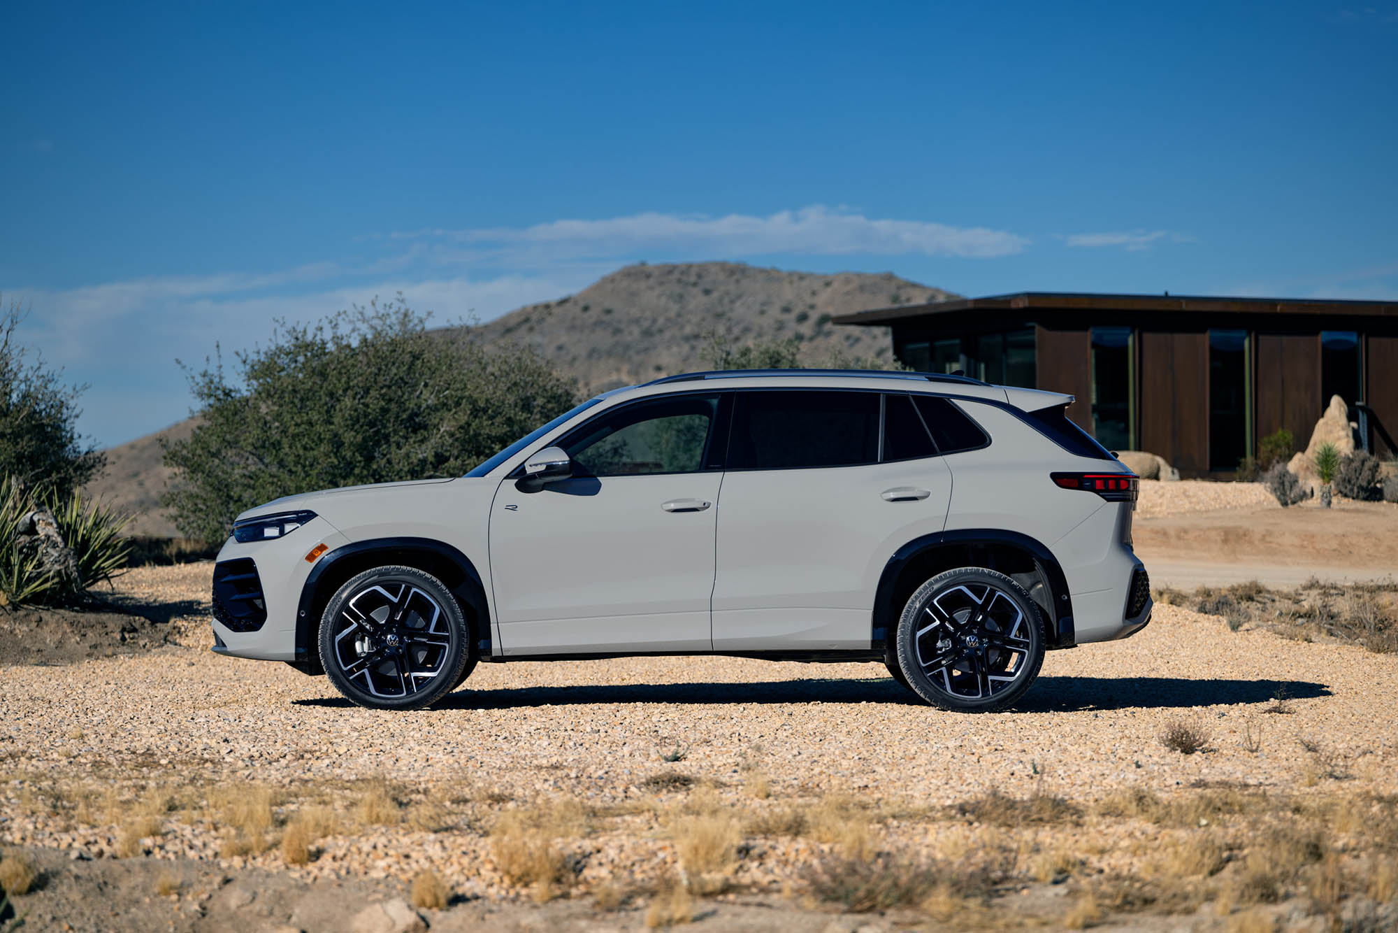
<svg viewBox="0 0 1398 933"><path fill-rule="evenodd" d="M835 323L892 327L914 369L1072 393L1104 446L1184 477L1230 477L1278 428L1304 446L1336 394L1370 450L1398 453L1398 302L1021 292Z"/></svg>

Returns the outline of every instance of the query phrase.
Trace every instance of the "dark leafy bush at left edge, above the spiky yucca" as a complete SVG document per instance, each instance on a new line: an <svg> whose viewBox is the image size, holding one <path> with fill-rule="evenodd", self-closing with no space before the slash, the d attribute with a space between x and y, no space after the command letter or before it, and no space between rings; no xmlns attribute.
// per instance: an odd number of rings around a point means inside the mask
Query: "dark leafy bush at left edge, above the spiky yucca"
<svg viewBox="0 0 1398 933"><path fill-rule="evenodd" d="M22 319L13 302L0 312L0 477L67 495L99 473L106 457L78 439L82 387L64 386L18 344Z"/></svg>

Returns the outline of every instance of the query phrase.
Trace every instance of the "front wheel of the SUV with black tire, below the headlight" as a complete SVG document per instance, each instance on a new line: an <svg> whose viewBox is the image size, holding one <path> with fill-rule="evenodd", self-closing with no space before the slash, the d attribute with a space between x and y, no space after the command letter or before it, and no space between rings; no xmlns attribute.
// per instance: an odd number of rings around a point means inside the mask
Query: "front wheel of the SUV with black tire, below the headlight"
<svg viewBox="0 0 1398 933"><path fill-rule="evenodd" d="M370 709L429 706L475 667L460 604L415 567L376 567L347 581L326 606L319 641L330 681Z"/></svg>

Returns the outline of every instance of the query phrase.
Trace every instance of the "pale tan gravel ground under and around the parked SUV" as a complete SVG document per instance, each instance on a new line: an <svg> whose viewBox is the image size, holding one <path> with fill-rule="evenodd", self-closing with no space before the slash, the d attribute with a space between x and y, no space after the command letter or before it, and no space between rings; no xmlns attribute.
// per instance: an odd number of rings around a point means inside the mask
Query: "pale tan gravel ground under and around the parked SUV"
<svg viewBox="0 0 1398 933"><path fill-rule="evenodd" d="M761 814L842 795L911 811L988 792L1086 806L1124 789L1307 795L1342 779L1346 793L1398 793L1392 656L1232 632L1219 617L1174 606L1158 607L1128 641L1050 653L1019 708L987 716L917 704L878 664L730 657L481 664L433 709L382 713L348 705L324 678L208 652L210 569L145 568L119 581L117 599L173 607L165 615L185 646L0 669L0 842L96 859L119 850L120 818L82 822L35 806L32 793L49 785L123 797L270 788L344 809L382 781L417 807L405 814L453 795L471 800L464 825L433 832L404 817L407 825L361 827L324 839L310 864L287 867L277 849L228 856L217 821L171 816L140 850L308 883L401 881L431 869L453 890L492 899L523 891L495 867L488 827L556 799L614 814L568 843L586 862L580 883L597 887L672 873L665 814L693 795L707 796L709 811ZM1278 695L1290 698L1289 715L1268 715ZM1211 751L1163 747L1162 730L1179 719L1202 729ZM681 760L664 761L674 750ZM656 790L650 779L665 774L696 789ZM928 852L958 832L967 829L898 820L886 828L902 848ZM1149 828L1121 832L1099 870L1134 871L1148 853ZM807 838L766 839L735 881L788 890L819 852Z"/></svg>

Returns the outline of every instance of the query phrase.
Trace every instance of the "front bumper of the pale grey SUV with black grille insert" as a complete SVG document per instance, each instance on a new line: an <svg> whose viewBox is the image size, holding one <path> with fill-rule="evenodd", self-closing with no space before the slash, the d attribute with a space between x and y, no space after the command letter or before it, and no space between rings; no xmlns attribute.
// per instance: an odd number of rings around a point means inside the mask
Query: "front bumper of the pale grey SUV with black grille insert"
<svg viewBox="0 0 1398 933"><path fill-rule="evenodd" d="M296 607L315 565L306 562L306 554L317 544L329 553L345 543L348 539L320 516L270 541L228 539L214 568L214 652L296 660Z"/></svg>

